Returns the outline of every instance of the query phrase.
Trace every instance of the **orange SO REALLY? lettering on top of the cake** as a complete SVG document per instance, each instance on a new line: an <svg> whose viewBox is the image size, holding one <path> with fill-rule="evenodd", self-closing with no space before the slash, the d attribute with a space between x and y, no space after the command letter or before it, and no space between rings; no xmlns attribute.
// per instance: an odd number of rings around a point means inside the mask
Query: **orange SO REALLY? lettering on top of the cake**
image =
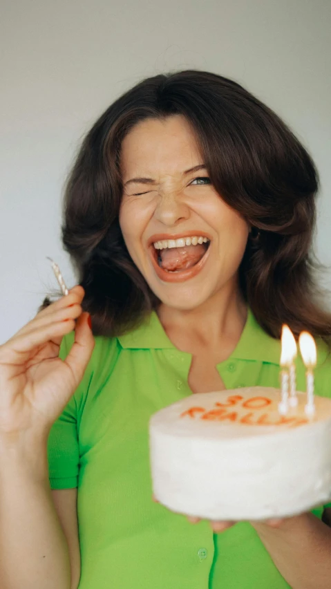
<svg viewBox="0 0 331 589"><path fill-rule="evenodd" d="M261 426L272 426L272 425L288 425L297 426L308 423L308 420L299 415L278 415L276 413L276 419L272 419L272 415L269 413L262 413L261 409L272 404L272 400L267 397L251 397L247 400L243 400L241 395L229 395L225 402L216 402L214 409L207 410L205 407L192 406L183 413L180 414L181 418L189 417L191 419L201 419L206 421L220 421L220 422L231 422L231 423L242 423L246 425L261 425ZM234 406L240 405L244 409L250 409L246 413L243 411L234 411ZM274 414L275 417L275 414Z"/></svg>

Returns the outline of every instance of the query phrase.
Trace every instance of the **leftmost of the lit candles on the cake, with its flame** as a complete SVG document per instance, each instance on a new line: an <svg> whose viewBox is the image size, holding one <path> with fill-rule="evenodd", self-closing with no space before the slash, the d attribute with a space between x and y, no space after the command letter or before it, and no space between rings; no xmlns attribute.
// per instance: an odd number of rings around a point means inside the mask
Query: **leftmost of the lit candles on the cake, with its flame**
<svg viewBox="0 0 331 589"><path fill-rule="evenodd" d="M285 415L288 406L295 407L298 404L296 396L296 379L294 359L296 358L297 348L294 335L287 325L283 325L281 333L281 402L278 404L279 413ZM289 381L290 381L290 399L289 399Z"/></svg>

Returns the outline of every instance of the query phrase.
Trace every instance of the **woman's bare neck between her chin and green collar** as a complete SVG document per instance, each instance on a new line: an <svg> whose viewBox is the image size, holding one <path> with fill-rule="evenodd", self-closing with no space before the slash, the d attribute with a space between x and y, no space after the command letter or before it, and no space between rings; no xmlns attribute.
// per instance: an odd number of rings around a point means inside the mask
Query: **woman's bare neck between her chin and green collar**
<svg viewBox="0 0 331 589"><path fill-rule="evenodd" d="M193 338L202 344L219 346L225 338L240 339L247 319L247 304L236 283L225 285L193 309L176 309L162 303L158 316L170 339L176 333L182 342Z"/></svg>

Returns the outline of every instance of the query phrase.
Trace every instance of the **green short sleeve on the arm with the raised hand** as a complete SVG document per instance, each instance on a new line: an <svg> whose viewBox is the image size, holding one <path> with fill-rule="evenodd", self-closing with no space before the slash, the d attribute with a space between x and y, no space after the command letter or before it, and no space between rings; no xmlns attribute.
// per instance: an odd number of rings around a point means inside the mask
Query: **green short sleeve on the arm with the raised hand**
<svg viewBox="0 0 331 589"><path fill-rule="evenodd" d="M64 359L73 345L74 333L62 339L59 357ZM57 418L48 436L48 472L51 489L77 487L79 442L77 436L77 405L75 395Z"/></svg>

